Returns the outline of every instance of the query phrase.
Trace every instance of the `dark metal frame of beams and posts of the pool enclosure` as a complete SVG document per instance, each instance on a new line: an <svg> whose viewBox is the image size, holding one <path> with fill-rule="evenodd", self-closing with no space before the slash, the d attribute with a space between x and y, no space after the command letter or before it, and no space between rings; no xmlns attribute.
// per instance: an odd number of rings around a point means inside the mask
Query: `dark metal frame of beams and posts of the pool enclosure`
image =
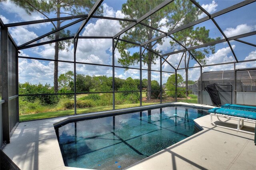
<svg viewBox="0 0 256 170"><path fill-rule="evenodd" d="M240 2L238 4L235 4L233 6L230 6L226 9L220 10L214 14L209 14L206 10L204 10L204 8L202 8L202 6L200 6L200 4L198 4L195 0L190 0L197 8L199 8L200 10L202 10L205 14L206 17L201 18L199 20L196 20L194 22L191 22L187 25L181 26L179 28L176 28L170 32L163 32L157 28L154 28L152 26L148 26L147 24L142 23L142 21L146 18L148 18L149 16L151 16L152 14L155 14L157 11L161 10L162 8L164 8L165 6L167 6L168 4L172 3L174 0L165 0L164 2L162 2L161 4L159 4L158 6L156 6L154 9L150 10L149 12L147 12L146 14L144 14L142 17L140 17L137 20L129 20L129 19L123 19L123 18L112 18L112 17L105 17L105 16L95 16L94 12L96 12L96 10L98 9L98 7L102 4L103 0L97 0L96 3L94 4L94 6L92 7L92 9L90 10L90 12L87 15L79 15L79 16L69 16L69 17L61 17L61 18L51 18L51 19L45 19L45 20L36 20L36 21L29 21L29 22L19 22L19 23L11 23L11 24L4 24L2 22L2 20L0 20L0 24L1 24L1 85L2 85L2 99L5 101L2 104L2 111L3 113L8 113L8 104L9 104L9 100L11 99L15 99L18 96L24 96L24 95L18 95L18 93L15 96L9 97L8 96L8 81L6 80L6 77L8 77L8 61L6 60L7 53L8 53L8 47L6 46L8 43L7 40L9 39L10 41L12 41L12 43L16 46L17 48L17 59L16 62L18 63L18 58L23 58L23 59L38 59L38 60L43 60L43 61L57 61L57 62L66 62L66 63L73 63L74 64L74 75L76 75L76 64L87 64L87 65L99 65L99 66L106 66L106 67L112 67L112 91L109 92L95 92L95 93L112 93L113 95L113 110L115 109L115 93L122 93L124 91L115 91L115 87L114 87L114 72L115 72L115 68L124 68L124 69L138 69L140 70L140 89L138 91L133 91L133 92L140 92L140 106L142 106L142 70L147 70L147 69L142 69L142 54L144 53L144 51L147 49L148 51L151 51L152 53L158 55L159 59L160 59L160 68L158 70L158 72L160 72L160 103L162 103L162 93L163 93L163 89L162 89L162 73L175 73L176 74L176 97L175 97L175 101L177 101L177 71L178 70L182 70L182 69L190 69L190 68L198 68L200 67L200 77L201 77L201 82L202 82L202 67L207 67L207 66L214 66L214 65L222 65L222 64L230 64L230 63L234 63L234 76L235 76L235 64L236 63L242 63L242 62L248 62L248 61L256 61L256 59L252 59L252 60L247 60L247 61L238 61L238 59L236 58L236 54L234 53L234 50L232 49L232 46L230 45L230 41L231 40L235 40L241 43L245 43L247 45L252 45L254 47L256 47L256 44L252 44L252 43L248 43L248 42L244 42L242 40L238 40L238 38L243 38L246 36L252 36L252 35L256 35L256 31L252 31L252 32L248 32L246 34L241 34L238 36L233 36L230 38L227 38L226 35L224 34L223 30L220 28L220 26L218 26L218 23L214 20L214 18L216 18L217 16L221 16L223 14L226 14L230 11L236 10L238 8L241 8L243 6L246 6L248 4L251 3L255 3L256 0L245 0L243 2ZM43 23L43 22L53 22L53 21L57 21L57 20L69 20L69 19L74 19L74 18L78 18L78 20L71 22L70 24L66 24L62 27L60 27L59 29L53 30L51 32L48 32L38 38L35 38L34 40L31 40L29 42L26 42L22 45L17 46L14 42L14 40L12 39L12 37L10 36L10 34L8 34L8 28L9 27L14 27L14 26L23 26L23 25L29 25L29 24L38 24L38 23ZM129 26L127 26L126 28L124 28L123 30L121 30L120 32L118 32L116 35L114 35L113 37L107 37L107 36L88 36L88 37L84 37L84 36L80 36L80 32L82 31L82 29L84 28L84 26L86 26L86 24L88 23L88 21L90 20L90 18L101 18L101 19L107 19L107 20L119 20L119 21L128 21L128 22L132 22L132 24L130 24ZM210 43L206 43L206 44L202 44L202 45L197 45L194 47L185 47L184 45L182 45L181 42L178 42L177 40L175 40L171 34L174 34L178 31L184 30L186 28L189 28L191 26L194 26L196 24L202 23L204 21L207 20L211 20L214 25L218 28L218 30L221 32L222 36L224 37L224 39L222 40L216 40L214 42L210 42ZM76 34L74 35L74 37L67 37L67 38L60 38L58 40L51 40L48 42L43 42L43 43L34 43L38 40L41 40L42 38L49 36L51 34L54 34L57 31L63 30L64 28L68 28L69 26L72 26L80 21L83 21L82 24L80 25L80 27L78 28ZM137 24L142 24L146 27L149 27L151 29L157 30L159 32L162 32L163 34L161 36L158 36L156 38L153 38L152 40L148 40L146 42L142 42L142 43L134 43L134 42L129 42L127 40L122 40L120 38L120 35L125 33L126 31L132 29L134 26L136 26ZM158 54L155 51L150 50L147 46L148 43L150 42L154 42L156 40L159 40L161 38L164 37L170 37L172 38L172 40L174 40L176 43L180 44L184 49L178 50L178 51L174 51L171 53L166 53L166 54ZM77 62L76 61L76 48L77 48L77 44L79 39L112 39L112 65L104 65L104 64L95 64L95 63L85 63L85 62ZM36 47L39 45L45 45L48 43L55 43L55 42L60 42L60 41L64 41L64 40L74 40L74 61L63 61L63 60L54 60L54 59L42 59L42 58L36 58L36 57L24 57L24 56L18 56L18 50L21 49L27 49L30 47ZM115 62L114 62L114 51L116 49L116 45L118 43L118 41L122 41L122 42L127 42L127 43L132 43L134 45L138 45L139 49L140 49L140 68L132 68L132 67L121 67L121 66L115 66ZM201 65L200 62L197 61L196 57L194 57L194 55L191 53L191 50L193 49L197 49L200 47L206 47L208 45L214 45L214 44L218 44L218 43L222 43L222 42L227 42L230 49L232 50L232 54L234 55L234 58L236 59L236 61L234 62L230 62L230 63L217 63L217 64L211 64L211 65ZM144 50L142 50L142 47L144 48ZM167 61L167 58L172 55L172 54L176 54L176 53L182 53L184 55L184 52L188 51L188 53L190 53L192 55L192 57L195 59L195 61L198 63L199 66L196 67L187 67L187 68L179 68L179 65L182 61L182 57L180 59L180 63L178 65L177 68L175 68L171 63L169 63ZM183 56L182 55L182 56ZM166 57L167 56L167 57ZM162 61L162 59L164 61ZM162 71L162 64L166 62L170 65L170 67L172 67L175 72L168 72L168 71ZM7 64L7 65L6 65ZM18 67L18 65L16 66ZM17 69L18 70L18 69ZM6 72L7 71L7 72ZM157 70L152 70L152 71L157 71ZM18 72L16 73L18 75ZM18 76L17 76L17 83L18 83ZM202 84L202 83L201 83ZM18 92L18 85L16 84L17 87L17 92ZM202 104L202 85L200 87L200 90L198 89L198 91L201 91L200 93L200 98L201 98L201 104ZM236 91L236 90L235 90ZM94 93L94 92L93 92ZM57 93L57 94L30 94L32 95L74 95L74 106L75 106L75 110L74 110L74 114L76 115L76 94L84 94L84 93L77 93L76 92L76 76L74 76L74 93ZM29 96L29 95L28 95ZM18 104L17 104L18 107ZM19 115L19 113L17 113L17 115ZM10 141L10 129L8 129L9 127L9 115L7 116L7 114L3 114L3 136L4 136L4 140L6 140L7 142Z"/></svg>

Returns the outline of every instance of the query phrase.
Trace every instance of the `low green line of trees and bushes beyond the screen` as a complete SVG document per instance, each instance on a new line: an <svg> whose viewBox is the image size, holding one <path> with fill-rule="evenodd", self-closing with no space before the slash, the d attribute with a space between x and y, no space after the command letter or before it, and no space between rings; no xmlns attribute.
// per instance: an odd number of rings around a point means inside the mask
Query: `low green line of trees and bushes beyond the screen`
<svg viewBox="0 0 256 170"><path fill-rule="evenodd" d="M64 74L60 74L58 77L58 85L60 89L58 93L74 93L74 73L73 71L67 71ZM184 79L180 74L177 74L177 84L184 82ZM193 81L190 81L193 83ZM175 74L170 75L166 83L163 84L163 90L166 91L166 97L175 97ZM148 87L148 80L142 79L142 89L146 90ZM114 78L114 90L123 91L120 93L120 97L128 96L132 98L136 96L136 100L139 100L140 91L140 79L121 79L118 77ZM159 99L160 97L160 84L156 80L151 81L151 97L152 99ZM183 91L179 91L183 90ZM76 75L76 92L77 93L89 93L89 92L111 92L112 91L112 77L106 75L101 76L90 76L84 74ZM137 92L132 92L137 91ZM43 104L52 105L58 103L58 95L42 95L54 93L54 87L50 84L43 85L42 83L31 84L28 82L19 83L19 94L39 94L39 96L26 96L25 99L30 102L34 102L36 99L40 99ZM184 88L178 87L177 97L186 97ZM148 94L148 91L146 92ZM66 95L66 97L72 98L73 95Z"/></svg>

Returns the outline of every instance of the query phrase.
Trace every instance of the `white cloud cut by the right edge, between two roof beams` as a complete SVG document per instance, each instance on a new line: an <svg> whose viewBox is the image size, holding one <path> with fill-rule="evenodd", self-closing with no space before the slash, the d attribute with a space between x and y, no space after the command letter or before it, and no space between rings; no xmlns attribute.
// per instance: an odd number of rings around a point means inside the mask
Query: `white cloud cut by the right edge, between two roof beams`
<svg viewBox="0 0 256 170"><path fill-rule="evenodd" d="M236 26L236 28L226 28L226 30L224 30L223 32L227 37L232 37L232 36L237 36L247 32L252 32L255 30L256 30L256 25L248 26L247 24L240 24Z"/></svg>

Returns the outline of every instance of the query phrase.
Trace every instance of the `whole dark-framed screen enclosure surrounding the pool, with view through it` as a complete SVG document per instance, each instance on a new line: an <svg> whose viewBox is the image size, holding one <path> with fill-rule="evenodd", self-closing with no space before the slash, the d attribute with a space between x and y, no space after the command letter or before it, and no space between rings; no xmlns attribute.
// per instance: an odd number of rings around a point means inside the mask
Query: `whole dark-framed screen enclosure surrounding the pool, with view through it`
<svg viewBox="0 0 256 170"><path fill-rule="evenodd" d="M222 105L256 105L254 0L0 4L1 143L20 121L212 105L212 83Z"/></svg>

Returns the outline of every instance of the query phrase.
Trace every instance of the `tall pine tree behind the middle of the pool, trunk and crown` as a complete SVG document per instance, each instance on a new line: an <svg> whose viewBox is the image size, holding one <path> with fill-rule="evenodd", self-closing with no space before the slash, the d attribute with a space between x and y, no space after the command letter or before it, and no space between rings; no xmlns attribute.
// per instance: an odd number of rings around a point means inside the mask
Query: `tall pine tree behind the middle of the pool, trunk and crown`
<svg viewBox="0 0 256 170"><path fill-rule="evenodd" d="M127 2L122 5L122 12L125 14L125 18L127 19L138 19L148 11L158 6L158 4L161 2L164 2L164 0L127 0ZM181 25L188 24L191 20L196 20L197 15L195 14L200 14L200 10L193 6L190 1L176 0L155 14L149 16L142 22L154 28L160 28L164 26L170 31ZM130 23L120 22L120 24L122 28L125 28ZM156 36L158 36L158 32L156 30L148 27L145 28L144 26L138 24L135 28L128 30L122 39L136 43L142 43L151 40ZM154 45L157 43L161 44L162 40L149 43L148 49L154 50ZM135 63L139 63L140 61L140 55L138 52L130 55L128 49L131 47L132 45L129 43L118 42L117 48L121 54L121 58L118 60L118 62L126 67ZM151 65L152 63L155 63L157 57L157 55L149 51L143 56L143 62L148 65L148 100L151 99Z"/></svg>

